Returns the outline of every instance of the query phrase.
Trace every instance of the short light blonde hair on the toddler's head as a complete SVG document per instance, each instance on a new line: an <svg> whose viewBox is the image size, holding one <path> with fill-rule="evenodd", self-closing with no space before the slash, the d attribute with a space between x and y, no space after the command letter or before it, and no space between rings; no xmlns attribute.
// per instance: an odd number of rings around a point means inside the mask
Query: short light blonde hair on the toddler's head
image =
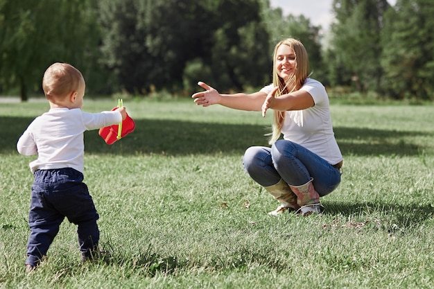
<svg viewBox="0 0 434 289"><path fill-rule="evenodd" d="M84 82L81 72L71 64L55 62L44 73L42 89L47 99L62 100Z"/></svg>

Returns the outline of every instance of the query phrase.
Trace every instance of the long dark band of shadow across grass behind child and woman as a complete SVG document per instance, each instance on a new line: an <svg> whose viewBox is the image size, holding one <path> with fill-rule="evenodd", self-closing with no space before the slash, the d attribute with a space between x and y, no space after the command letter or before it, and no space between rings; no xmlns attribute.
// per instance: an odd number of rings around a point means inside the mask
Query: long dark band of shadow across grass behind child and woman
<svg viewBox="0 0 434 289"><path fill-rule="evenodd" d="M16 143L31 118L0 116L0 153L15 153ZM367 128L335 128L342 154L418 155L423 148L402 140L426 136L424 132L397 132ZM263 125L194 123L188 121L137 120L136 129L108 146L98 131L85 132L87 153L116 155L196 155L218 152L243 155L250 146L268 146Z"/></svg>

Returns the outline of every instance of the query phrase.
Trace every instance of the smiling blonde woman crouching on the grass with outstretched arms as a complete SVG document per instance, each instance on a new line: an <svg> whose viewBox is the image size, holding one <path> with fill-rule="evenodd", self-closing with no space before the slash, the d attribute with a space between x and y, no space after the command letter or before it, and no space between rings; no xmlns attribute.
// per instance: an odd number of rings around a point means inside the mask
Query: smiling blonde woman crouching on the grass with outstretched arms
<svg viewBox="0 0 434 289"><path fill-rule="evenodd" d="M282 40L273 55L273 83L253 94L219 94L204 82L206 91L191 96L197 105L220 104L236 110L274 110L268 147L245 151L243 165L250 177L281 204L269 214L296 211L320 213L320 197L340 183L342 154L336 143L324 86L309 78L309 58L303 44ZM284 139L279 139L280 135Z"/></svg>

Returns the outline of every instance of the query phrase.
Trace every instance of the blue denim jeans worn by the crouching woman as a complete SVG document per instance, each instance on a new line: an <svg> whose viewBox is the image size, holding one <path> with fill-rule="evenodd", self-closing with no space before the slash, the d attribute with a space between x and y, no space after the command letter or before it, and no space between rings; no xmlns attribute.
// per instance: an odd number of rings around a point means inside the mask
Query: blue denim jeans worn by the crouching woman
<svg viewBox="0 0 434 289"><path fill-rule="evenodd" d="M250 177L261 186L272 186L280 179L289 185L300 186L313 178L315 191L322 197L340 183L337 168L303 146L284 139L273 143L271 148L248 148L243 165Z"/></svg>

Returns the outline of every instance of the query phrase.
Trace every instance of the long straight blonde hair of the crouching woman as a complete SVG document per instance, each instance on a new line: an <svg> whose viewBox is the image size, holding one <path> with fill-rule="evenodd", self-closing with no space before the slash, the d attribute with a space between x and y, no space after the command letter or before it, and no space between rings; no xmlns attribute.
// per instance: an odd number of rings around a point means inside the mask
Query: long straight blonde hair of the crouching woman
<svg viewBox="0 0 434 289"><path fill-rule="evenodd" d="M281 45L288 45L295 52L295 74L286 81L283 78L279 77L279 75L277 74L275 64L277 58L277 49L279 49ZM272 62L272 83L274 87L279 87L275 94L276 97L279 97L283 94L289 94L293 91L297 91L303 86L306 78L309 77L309 57L307 55L306 49L304 48L304 45L299 40L295 40L294 38L287 38L277 43L275 46L275 52L273 53ZM279 112L275 110L272 123L272 132L270 133L270 139L268 140L268 143L275 143L275 141L279 139L282 125L284 125L284 121L285 112Z"/></svg>

